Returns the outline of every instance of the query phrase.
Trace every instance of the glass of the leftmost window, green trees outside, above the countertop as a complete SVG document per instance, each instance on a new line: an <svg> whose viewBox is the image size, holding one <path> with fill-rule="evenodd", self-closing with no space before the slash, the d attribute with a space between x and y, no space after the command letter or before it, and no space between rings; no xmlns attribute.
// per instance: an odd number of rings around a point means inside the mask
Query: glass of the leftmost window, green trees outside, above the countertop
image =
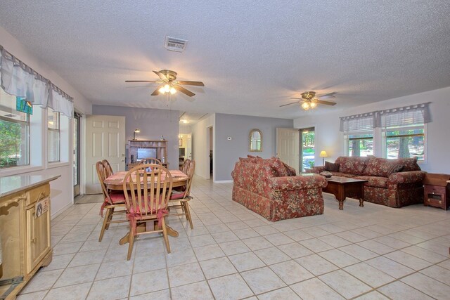
<svg viewBox="0 0 450 300"><path fill-rule="evenodd" d="M30 164L30 122L16 98L0 89L0 168Z"/></svg>

